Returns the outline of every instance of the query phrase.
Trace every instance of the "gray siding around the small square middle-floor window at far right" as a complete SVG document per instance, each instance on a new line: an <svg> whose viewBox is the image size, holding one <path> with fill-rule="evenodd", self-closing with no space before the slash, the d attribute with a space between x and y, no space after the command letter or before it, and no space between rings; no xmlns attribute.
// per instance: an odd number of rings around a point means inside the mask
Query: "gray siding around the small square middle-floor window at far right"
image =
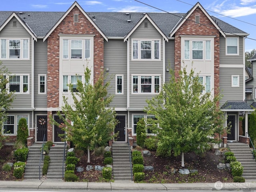
<svg viewBox="0 0 256 192"><path fill-rule="evenodd" d="M239 75L239 87L231 86L231 76ZM243 68L220 68L220 93L223 95L220 104L227 100L243 100Z"/></svg>

